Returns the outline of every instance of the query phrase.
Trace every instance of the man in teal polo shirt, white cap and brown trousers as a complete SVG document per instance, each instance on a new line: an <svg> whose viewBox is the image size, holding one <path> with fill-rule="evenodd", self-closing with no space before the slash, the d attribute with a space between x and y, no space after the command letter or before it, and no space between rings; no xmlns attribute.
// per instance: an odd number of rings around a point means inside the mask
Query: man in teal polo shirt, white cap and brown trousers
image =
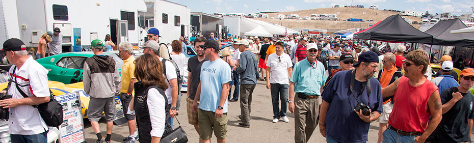
<svg viewBox="0 0 474 143"><path fill-rule="evenodd" d="M306 59L295 64L289 80L288 108L295 112L295 142L307 142L318 125L318 98L328 77L323 63L316 61L317 52L318 45L309 43Z"/></svg>

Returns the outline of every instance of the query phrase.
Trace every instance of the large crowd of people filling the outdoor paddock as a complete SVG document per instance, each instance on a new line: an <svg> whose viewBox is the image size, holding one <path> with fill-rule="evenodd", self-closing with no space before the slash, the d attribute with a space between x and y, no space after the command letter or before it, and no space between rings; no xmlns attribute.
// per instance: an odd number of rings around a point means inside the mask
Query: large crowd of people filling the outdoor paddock
<svg viewBox="0 0 474 143"><path fill-rule="evenodd" d="M48 36L42 36L38 58L44 57L42 43L51 41ZM128 122L124 142L160 142L173 130L181 99L182 53L187 53L188 44L196 55L188 60L186 110L199 142L210 142L213 132L217 142L226 142L228 102L239 101L238 125L250 128L258 80L271 91L273 123L288 123L287 110L294 113L295 142L308 142L318 126L327 142L367 142L370 123L377 120L377 142L470 142L474 69L463 69L459 78L454 77L450 55L439 60L440 75L431 75L432 56L420 49L406 53L404 45L378 49L378 43L364 47L363 42L332 37L244 36L228 39L235 49L231 54L213 33L208 38L180 37L172 41L171 52L160 43L156 28L150 28L147 37L140 46L144 54L137 59L128 42L117 47L107 40L91 42L94 56L85 61L83 80L97 142L111 140L117 95ZM123 67L103 54L109 45L119 50ZM11 112L12 142L45 142L47 127L30 105L49 101L47 70L28 56L21 40L9 39L3 47L15 65L9 71L14 75L11 84L22 87L9 85L2 93L13 98L0 100L0 106ZM29 97L23 98L19 90ZM107 120L106 137L98 124L102 117Z"/></svg>

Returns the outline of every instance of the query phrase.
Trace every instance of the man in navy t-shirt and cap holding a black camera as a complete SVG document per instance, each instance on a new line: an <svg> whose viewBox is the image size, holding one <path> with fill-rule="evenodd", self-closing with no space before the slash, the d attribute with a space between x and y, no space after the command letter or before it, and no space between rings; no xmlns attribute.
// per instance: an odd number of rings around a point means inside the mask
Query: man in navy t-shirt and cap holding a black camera
<svg viewBox="0 0 474 143"><path fill-rule="evenodd" d="M382 112L382 89L373 77L378 66L378 55L367 51L353 65L355 70L339 71L327 83L319 123L327 142L367 141L370 122Z"/></svg>

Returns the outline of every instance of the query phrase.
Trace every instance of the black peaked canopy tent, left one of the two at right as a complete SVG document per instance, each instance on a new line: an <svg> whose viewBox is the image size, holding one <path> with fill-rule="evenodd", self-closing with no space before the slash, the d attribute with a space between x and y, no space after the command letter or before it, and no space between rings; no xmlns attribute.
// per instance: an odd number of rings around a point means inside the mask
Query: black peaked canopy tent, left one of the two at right
<svg viewBox="0 0 474 143"><path fill-rule="evenodd" d="M357 34L358 39L432 44L433 36L417 30L403 20L400 14L392 15L369 30Z"/></svg>

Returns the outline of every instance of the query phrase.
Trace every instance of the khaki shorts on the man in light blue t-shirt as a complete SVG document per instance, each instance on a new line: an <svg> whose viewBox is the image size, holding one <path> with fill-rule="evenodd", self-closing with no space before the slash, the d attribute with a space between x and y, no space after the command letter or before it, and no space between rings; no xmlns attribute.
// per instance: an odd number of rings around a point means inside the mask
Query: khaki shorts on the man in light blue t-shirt
<svg viewBox="0 0 474 143"><path fill-rule="evenodd" d="M214 118L213 111L205 111L198 109L199 117L199 136L202 139L209 139L214 135L218 139L225 139L227 137L227 113L223 113L221 118Z"/></svg>

